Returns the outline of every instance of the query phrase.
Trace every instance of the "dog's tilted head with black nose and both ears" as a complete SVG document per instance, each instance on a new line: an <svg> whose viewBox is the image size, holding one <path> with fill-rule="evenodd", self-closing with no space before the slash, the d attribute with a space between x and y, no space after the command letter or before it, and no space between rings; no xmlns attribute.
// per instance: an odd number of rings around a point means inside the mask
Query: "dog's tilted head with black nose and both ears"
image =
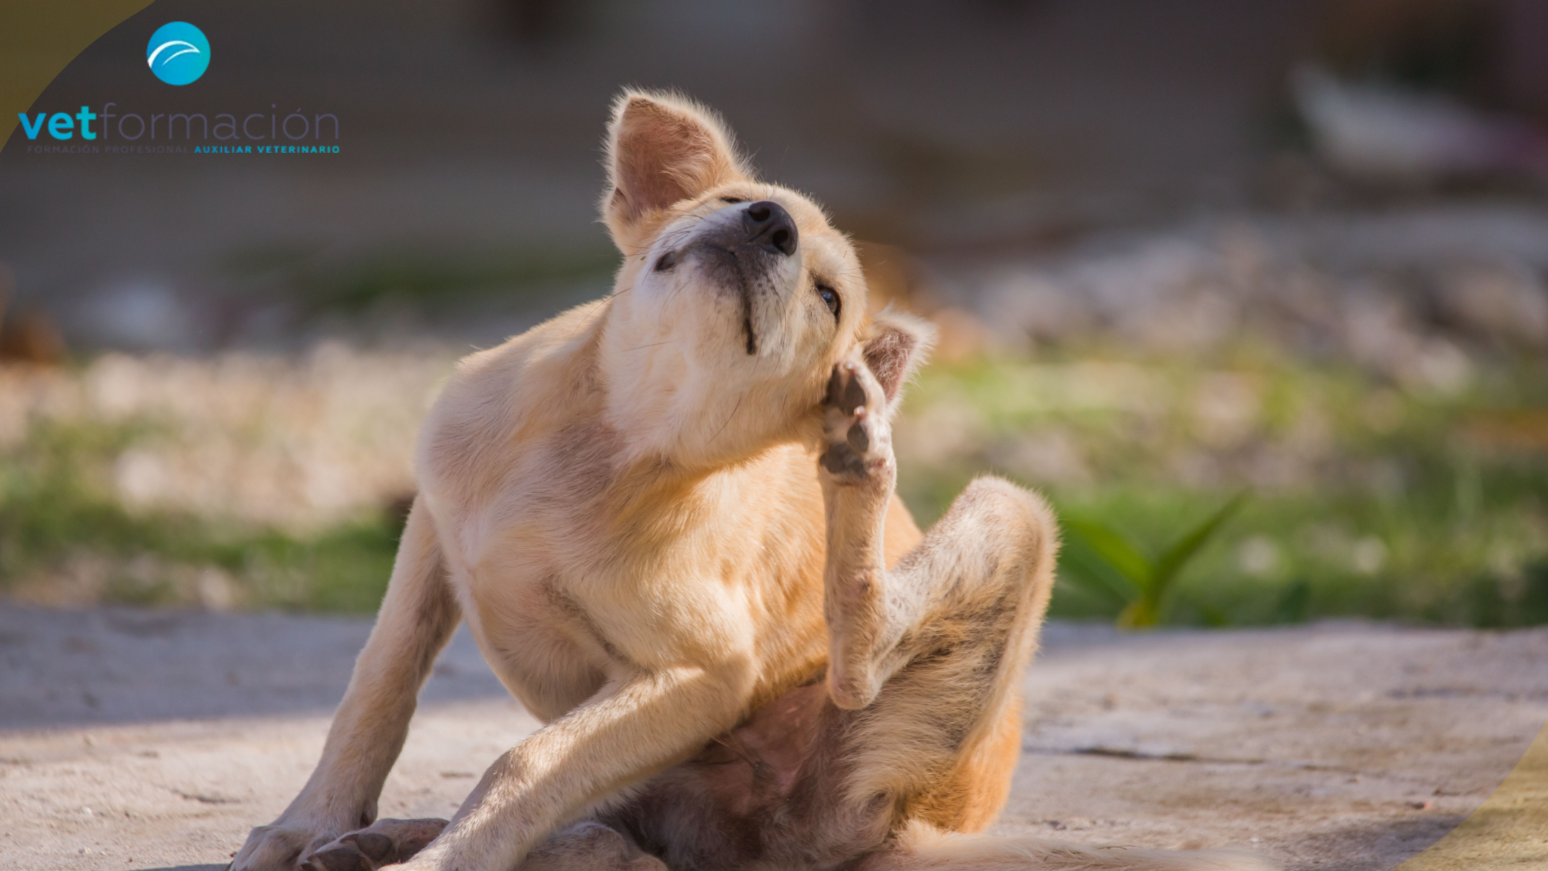
<svg viewBox="0 0 1548 871"><path fill-rule="evenodd" d="M896 398L927 324L870 315L850 240L796 191L754 178L720 119L625 91L602 217L624 253L602 338L608 414L690 465L814 439L833 366L864 360Z"/></svg>

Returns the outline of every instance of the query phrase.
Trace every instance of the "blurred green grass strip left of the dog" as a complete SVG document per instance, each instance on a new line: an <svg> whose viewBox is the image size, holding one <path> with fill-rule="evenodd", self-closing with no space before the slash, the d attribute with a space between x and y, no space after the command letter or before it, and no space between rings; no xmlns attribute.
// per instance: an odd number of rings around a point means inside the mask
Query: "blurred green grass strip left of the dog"
<svg viewBox="0 0 1548 871"><path fill-rule="evenodd" d="M392 507L311 535L128 510L108 473L125 448L155 437L149 420L40 423L0 456L0 578L65 601L370 612L387 589L401 528ZM70 577L87 575L87 578ZM82 581L87 590L71 590ZM48 601L50 590L34 589Z"/></svg>

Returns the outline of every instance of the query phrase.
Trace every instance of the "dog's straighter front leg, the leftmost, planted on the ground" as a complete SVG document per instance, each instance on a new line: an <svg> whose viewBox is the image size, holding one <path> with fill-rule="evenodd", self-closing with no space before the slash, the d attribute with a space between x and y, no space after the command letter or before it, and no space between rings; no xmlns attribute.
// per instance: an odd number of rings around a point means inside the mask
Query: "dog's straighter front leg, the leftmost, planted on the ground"
<svg viewBox="0 0 1548 871"><path fill-rule="evenodd" d="M415 499L376 626L354 660L322 759L289 807L252 829L231 871L291 871L313 849L372 825L420 687L460 618L430 511Z"/></svg>

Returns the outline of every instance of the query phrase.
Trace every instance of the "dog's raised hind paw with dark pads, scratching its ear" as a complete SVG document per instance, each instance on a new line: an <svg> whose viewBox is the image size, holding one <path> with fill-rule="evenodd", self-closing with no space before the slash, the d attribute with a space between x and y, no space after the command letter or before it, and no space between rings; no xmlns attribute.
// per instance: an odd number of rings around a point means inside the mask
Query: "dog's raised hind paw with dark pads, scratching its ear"
<svg viewBox="0 0 1548 871"><path fill-rule="evenodd" d="M868 480L892 459L887 397L862 363L839 363L822 400L822 468L841 484Z"/></svg>

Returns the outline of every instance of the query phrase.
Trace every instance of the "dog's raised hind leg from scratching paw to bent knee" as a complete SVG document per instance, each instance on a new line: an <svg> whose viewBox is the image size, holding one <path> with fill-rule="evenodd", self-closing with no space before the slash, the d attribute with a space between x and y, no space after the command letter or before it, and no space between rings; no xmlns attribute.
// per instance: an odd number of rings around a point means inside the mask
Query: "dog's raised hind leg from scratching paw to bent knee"
<svg viewBox="0 0 1548 871"><path fill-rule="evenodd" d="M825 408L819 477L834 704L864 708L902 666L940 649L983 651L975 668L988 671L975 683L1017 680L1053 587L1053 513L1006 480L974 480L889 570L884 524L896 462L885 394L867 366L841 363Z"/></svg>

